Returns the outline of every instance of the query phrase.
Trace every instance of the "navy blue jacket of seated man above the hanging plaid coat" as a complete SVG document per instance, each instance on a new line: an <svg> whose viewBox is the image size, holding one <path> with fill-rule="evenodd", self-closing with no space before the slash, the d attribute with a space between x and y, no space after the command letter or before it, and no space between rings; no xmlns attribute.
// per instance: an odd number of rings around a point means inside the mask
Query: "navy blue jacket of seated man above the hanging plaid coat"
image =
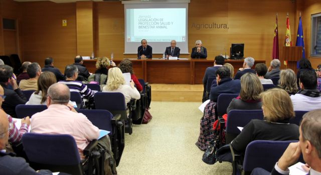
<svg viewBox="0 0 321 175"><path fill-rule="evenodd" d="M222 78L218 86L211 89L210 100L217 102L220 94L239 94L241 90L241 81L232 80L232 78Z"/></svg>

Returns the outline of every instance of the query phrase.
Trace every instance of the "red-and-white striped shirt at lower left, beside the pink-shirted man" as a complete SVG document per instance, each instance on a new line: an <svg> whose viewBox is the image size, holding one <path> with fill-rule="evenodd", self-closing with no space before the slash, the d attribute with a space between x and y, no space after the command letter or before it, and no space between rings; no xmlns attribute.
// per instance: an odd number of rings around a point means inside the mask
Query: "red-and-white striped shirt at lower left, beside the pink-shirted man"
<svg viewBox="0 0 321 175"><path fill-rule="evenodd" d="M28 132L29 124L23 123L21 127L16 127L15 121L13 118L7 114L8 120L9 120L9 141L11 143L17 143L20 142L22 135L26 132Z"/></svg>

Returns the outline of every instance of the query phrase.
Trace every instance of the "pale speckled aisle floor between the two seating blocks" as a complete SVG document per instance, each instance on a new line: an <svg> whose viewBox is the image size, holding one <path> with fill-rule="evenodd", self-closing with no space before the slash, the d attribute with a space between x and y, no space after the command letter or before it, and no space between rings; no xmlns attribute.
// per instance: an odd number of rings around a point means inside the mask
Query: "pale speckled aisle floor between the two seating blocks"
<svg viewBox="0 0 321 175"><path fill-rule="evenodd" d="M199 102L151 103L153 119L134 125L125 135L125 149L118 174L228 174L228 162L208 165L202 161L198 139L202 112Z"/></svg>

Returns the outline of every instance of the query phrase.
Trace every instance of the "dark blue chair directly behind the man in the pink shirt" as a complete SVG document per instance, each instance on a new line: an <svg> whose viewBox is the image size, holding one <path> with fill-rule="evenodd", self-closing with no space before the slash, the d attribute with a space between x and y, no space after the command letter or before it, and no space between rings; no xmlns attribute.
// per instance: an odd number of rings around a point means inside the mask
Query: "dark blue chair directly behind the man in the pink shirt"
<svg viewBox="0 0 321 175"><path fill-rule="evenodd" d="M83 151L85 156L89 156L87 166L82 165L76 141L71 135L25 133L22 141L34 169L82 175L92 174L96 158L99 158L99 165L103 165L104 153L94 150L97 140L92 140ZM96 174L101 174L103 166L95 170Z"/></svg>

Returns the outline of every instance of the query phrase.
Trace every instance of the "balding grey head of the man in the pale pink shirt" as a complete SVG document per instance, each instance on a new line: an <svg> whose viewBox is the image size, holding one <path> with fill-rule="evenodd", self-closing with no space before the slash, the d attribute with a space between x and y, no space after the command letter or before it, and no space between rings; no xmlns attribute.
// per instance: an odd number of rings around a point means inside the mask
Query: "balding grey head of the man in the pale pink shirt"
<svg viewBox="0 0 321 175"><path fill-rule="evenodd" d="M51 104L68 104L70 100L70 90L67 85L55 83L48 88L48 96Z"/></svg>

